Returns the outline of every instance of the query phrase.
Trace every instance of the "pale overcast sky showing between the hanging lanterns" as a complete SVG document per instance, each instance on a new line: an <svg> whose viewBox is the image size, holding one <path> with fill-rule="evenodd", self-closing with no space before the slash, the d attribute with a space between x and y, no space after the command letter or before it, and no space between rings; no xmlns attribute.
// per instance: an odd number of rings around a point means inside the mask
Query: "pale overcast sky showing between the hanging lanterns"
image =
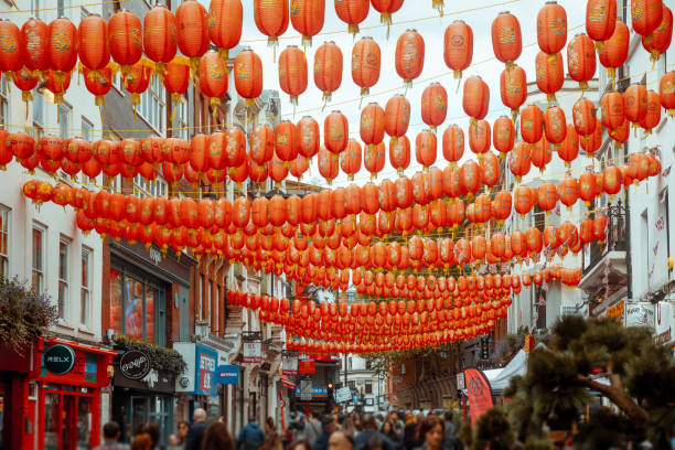
<svg viewBox="0 0 675 450"><path fill-rule="evenodd" d="M201 0L208 8L207 0ZM289 103L288 95L279 88L278 68L274 61L272 50L267 46L266 36L256 28L254 21L253 0L244 0L244 30L242 35L242 44L249 45L261 57L265 72L265 88L278 89L282 100L283 118L297 122L303 115L310 115L320 124L323 135L323 119L331 110L341 110L350 121L350 135L358 140L358 121L361 115L360 108L360 87L352 81L351 74L351 55L352 46L355 40L346 32L347 25L342 22L334 9L334 0L325 1L325 22L322 34L314 36L312 47L308 47L308 68L309 79L308 88L300 96L299 106L293 117L293 108ZM575 34L585 31L585 6L583 0L558 0L567 10L568 21L568 42ZM504 108L500 98L500 73L504 65L496 61L492 51L492 39L490 28L493 19L501 11L511 11L521 21L523 33L523 53L516 63L527 72L527 79L534 81L535 56L539 51L536 44L536 17L538 10L545 4L544 0L472 0L472 1L454 1L446 0L446 13L442 18L431 8L431 0L406 0L403 8L394 14L394 24L390 28L389 39L386 39L386 26L381 25L379 13L371 7L367 19L361 24L361 33L356 35L356 40L361 36L372 36L379 44L382 50L382 65L379 82L371 89L371 96L363 100L365 106L368 101L377 101L383 108L386 101L396 94L405 92L401 78L397 75L394 62L396 41L398 36L407 29L416 29L425 39L425 65L419 78L417 78L413 88L408 89L406 96L410 101L413 111L410 118L410 129L408 138L413 144L411 162L406 171L406 174L411 176L415 171L419 170L419 165L415 161L415 136L417 132L426 128L421 120L420 99L421 93L426 86L432 82L441 83L448 90L448 118L443 126L439 127L439 138L444 128L450 124L460 125L467 135L468 119L462 110L462 89L457 89L457 81L452 77L450 71L443 61L443 33L446 28L454 20L463 20L473 30L473 61L471 66L464 71L463 78L470 75L480 75L490 86L491 103L490 114L486 119L491 122L501 115L507 115L508 110ZM403 22L403 23L397 23ZM277 55L287 45L301 45L300 34L289 23L289 28L280 39ZM312 76L312 66L314 61L314 52L325 41L334 41L343 54L343 76L342 85L338 92L333 94L332 103L329 104L322 111L322 93L314 85ZM562 51L564 57L565 50ZM565 62L567 72L567 62ZM388 161L388 137L385 135L385 143L387 143L387 162L385 169L378 175L378 180L384 178L396 176L396 171L390 167ZM468 146L468 135L464 154L470 153ZM438 148L437 164L442 169L447 162L442 157L440 139ZM314 164L311 170L311 179L314 181L323 181L320 178L319 171ZM290 176L290 174L289 174ZM303 181L310 180L309 173L306 174ZM361 172L356 175L355 182L364 184L369 180L369 173L362 167ZM347 185L346 176L339 176L334 185Z"/></svg>

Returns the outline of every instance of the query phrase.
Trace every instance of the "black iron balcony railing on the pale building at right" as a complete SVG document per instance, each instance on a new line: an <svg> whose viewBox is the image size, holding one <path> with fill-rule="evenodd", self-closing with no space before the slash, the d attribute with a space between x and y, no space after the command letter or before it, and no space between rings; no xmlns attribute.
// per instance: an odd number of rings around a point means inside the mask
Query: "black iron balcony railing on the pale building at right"
<svg viewBox="0 0 675 450"><path fill-rule="evenodd" d="M583 274L590 271L608 253L626 251L629 239L628 212L621 201L615 205L607 205L608 229L607 240L599 243L593 240L588 247L582 249ZM593 215L591 215L591 218Z"/></svg>

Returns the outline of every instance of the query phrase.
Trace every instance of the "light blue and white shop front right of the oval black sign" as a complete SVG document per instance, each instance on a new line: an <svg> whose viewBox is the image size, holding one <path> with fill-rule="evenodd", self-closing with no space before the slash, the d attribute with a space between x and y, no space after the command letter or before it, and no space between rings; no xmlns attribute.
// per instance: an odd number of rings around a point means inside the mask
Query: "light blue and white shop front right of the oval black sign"
<svg viewBox="0 0 675 450"><path fill-rule="evenodd" d="M175 381L175 392L188 397L190 417L194 409L203 408L210 420L217 420L223 415L222 390L217 383L217 350L193 342L175 342L173 350L188 364L185 373Z"/></svg>

